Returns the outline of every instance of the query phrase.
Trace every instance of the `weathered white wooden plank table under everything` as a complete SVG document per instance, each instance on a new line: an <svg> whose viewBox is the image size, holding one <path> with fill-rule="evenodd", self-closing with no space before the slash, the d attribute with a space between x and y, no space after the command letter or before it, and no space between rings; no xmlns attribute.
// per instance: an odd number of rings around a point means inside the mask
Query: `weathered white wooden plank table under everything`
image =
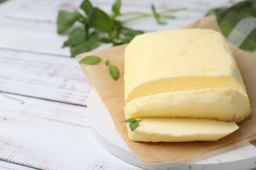
<svg viewBox="0 0 256 170"><path fill-rule="evenodd" d="M93 5L110 12L113 1ZM178 29L228 0L123 1L123 12L187 7L176 20L152 18L128 26L144 31ZM0 169L140 169L96 141L86 113L91 85L56 34L60 9L81 0L8 0L0 3ZM106 48L106 46L100 46Z"/></svg>

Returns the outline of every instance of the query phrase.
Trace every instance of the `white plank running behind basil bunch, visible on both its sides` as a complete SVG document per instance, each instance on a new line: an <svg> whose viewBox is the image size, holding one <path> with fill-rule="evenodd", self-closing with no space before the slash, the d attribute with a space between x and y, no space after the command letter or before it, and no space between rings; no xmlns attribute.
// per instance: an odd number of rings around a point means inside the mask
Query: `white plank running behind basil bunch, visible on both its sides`
<svg viewBox="0 0 256 170"><path fill-rule="evenodd" d="M30 15L33 16L32 14ZM177 20L168 20L168 24L166 25L158 25L153 18L148 18L131 22L128 26L147 32L178 29L179 27L202 17L202 14L198 12L181 12L177 14L177 17ZM12 19L13 18L0 18L0 48L58 56L70 56L68 48L61 48L62 43L67 37L56 34L55 23ZM105 46L101 46L101 48L106 48L108 46L110 45L106 44Z"/></svg>

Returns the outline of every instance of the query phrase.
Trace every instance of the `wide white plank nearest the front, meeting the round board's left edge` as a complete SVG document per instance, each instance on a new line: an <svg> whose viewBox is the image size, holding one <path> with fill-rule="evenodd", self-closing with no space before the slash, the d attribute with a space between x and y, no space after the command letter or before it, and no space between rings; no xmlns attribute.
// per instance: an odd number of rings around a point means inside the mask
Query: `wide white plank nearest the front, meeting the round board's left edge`
<svg viewBox="0 0 256 170"><path fill-rule="evenodd" d="M0 159L39 169L129 169L91 133L87 108L0 93Z"/></svg>

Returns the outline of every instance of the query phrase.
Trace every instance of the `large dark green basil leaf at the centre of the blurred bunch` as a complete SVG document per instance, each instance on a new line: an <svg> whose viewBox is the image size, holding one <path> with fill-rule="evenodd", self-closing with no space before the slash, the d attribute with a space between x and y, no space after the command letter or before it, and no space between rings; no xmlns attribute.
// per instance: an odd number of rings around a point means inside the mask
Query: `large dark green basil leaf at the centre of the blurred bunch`
<svg viewBox="0 0 256 170"><path fill-rule="evenodd" d="M94 8L89 16L89 24L98 31L111 33L113 22L103 10Z"/></svg>

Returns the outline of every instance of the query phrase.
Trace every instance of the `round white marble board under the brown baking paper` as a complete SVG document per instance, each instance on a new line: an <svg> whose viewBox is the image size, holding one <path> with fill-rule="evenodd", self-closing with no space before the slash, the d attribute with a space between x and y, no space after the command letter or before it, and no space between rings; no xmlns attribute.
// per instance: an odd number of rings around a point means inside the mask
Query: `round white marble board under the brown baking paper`
<svg viewBox="0 0 256 170"><path fill-rule="evenodd" d="M145 169L253 169L256 167L256 148L243 143L223 153L205 157L194 162L161 163L145 165L127 148L116 131L114 122L95 88L89 94L87 111L93 127L93 133L99 143L121 160Z"/></svg>

